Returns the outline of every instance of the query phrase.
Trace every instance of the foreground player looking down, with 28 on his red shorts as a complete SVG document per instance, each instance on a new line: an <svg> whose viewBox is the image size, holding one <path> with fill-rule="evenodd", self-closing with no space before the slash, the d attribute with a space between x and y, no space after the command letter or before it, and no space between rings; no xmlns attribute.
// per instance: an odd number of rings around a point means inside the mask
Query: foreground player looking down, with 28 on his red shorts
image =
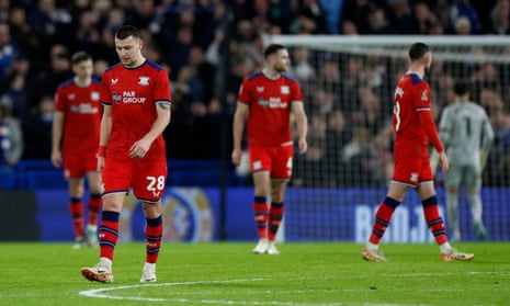
<svg viewBox="0 0 510 306"><path fill-rule="evenodd" d="M103 213L99 229L100 260L81 269L89 281L113 282L112 263L118 240L120 215L133 188L146 217L146 262L140 282L156 281L156 262L163 224L161 196L167 181L162 132L170 123L168 71L141 54L139 31L124 25L115 33L121 63L103 75L104 106L98 150L103 179Z"/></svg>

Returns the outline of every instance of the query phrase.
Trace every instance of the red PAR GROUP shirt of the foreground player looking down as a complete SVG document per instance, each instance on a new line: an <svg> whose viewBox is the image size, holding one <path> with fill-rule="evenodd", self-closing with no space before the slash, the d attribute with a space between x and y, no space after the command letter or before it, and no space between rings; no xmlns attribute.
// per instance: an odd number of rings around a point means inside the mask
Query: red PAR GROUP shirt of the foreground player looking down
<svg viewBox="0 0 510 306"><path fill-rule="evenodd" d="M133 143L150 131L158 116L156 103L171 103L168 72L150 60L136 68L117 64L103 73L101 101L112 106L107 155L129 159ZM162 135L155 139L143 160L166 160Z"/></svg>

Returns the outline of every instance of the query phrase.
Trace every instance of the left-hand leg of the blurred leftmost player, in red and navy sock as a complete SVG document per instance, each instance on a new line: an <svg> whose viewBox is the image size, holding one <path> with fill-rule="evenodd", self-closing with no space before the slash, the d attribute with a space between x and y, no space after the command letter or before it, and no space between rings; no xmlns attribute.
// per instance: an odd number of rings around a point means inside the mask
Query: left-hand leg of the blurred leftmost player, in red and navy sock
<svg viewBox="0 0 510 306"><path fill-rule="evenodd" d="M84 246L84 209L83 209L83 179L69 178L69 213L72 220L72 229L75 231L75 245L72 248L79 249Z"/></svg>

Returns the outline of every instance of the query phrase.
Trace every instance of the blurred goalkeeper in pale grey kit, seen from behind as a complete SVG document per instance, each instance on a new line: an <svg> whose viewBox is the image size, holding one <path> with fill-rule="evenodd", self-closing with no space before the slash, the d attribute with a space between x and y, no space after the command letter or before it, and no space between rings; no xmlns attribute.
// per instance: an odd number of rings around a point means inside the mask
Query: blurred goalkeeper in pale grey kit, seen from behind
<svg viewBox="0 0 510 306"><path fill-rule="evenodd" d="M476 237L487 238L481 220L481 172L494 139L494 131L484 107L469 100L466 82L454 84L455 101L441 115L440 138L451 159L445 173L447 227L455 241L461 240L458 191L466 188Z"/></svg>

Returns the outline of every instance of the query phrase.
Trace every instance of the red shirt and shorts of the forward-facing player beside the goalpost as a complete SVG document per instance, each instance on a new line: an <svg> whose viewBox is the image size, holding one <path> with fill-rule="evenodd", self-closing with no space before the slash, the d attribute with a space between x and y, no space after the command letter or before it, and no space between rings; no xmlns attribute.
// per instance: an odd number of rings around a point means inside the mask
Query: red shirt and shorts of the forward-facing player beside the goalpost
<svg viewBox="0 0 510 306"><path fill-rule="evenodd" d="M296 80L263 72L246 77L238 102L247 104L248 151L251 172L270 171L273 179L290 179L294 147L291 131L292 103L303 103Z"/></svg>

